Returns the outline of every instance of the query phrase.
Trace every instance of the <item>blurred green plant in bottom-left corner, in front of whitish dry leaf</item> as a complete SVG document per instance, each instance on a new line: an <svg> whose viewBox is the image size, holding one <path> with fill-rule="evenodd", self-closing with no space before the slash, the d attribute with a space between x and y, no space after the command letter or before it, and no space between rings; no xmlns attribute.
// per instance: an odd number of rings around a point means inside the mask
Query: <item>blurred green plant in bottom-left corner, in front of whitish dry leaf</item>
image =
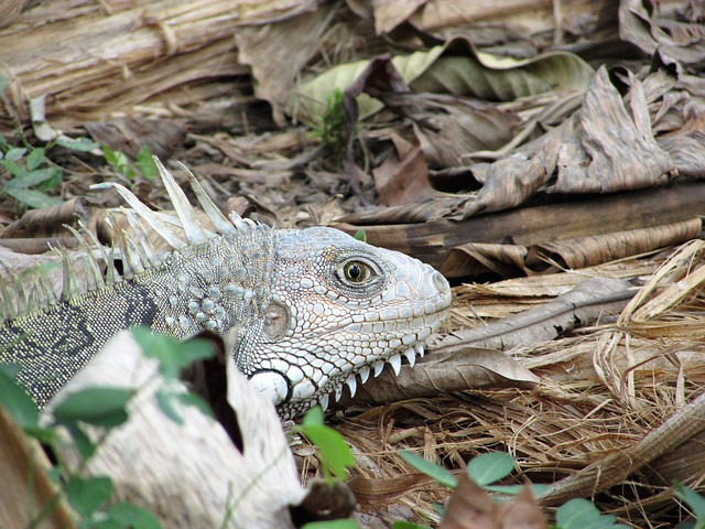
<svg viewBox="0 0 705 529"><path fill-rule="evenodd" d="M134 330L133 335L144 355L159 361L159 371L167 382L158 395L158 402L166 417L177 423L183 421L176 412L175 402L209 412L199 397L176 390L176 380L182 367L212 356L210 346L199 341L177 343L166 336L153 335L145 328ZM33 514L30 527L39 526L51 516L63 498L79 516L77 527L80 529L159 529L161 526L156 517L142 507L127 503L109 505L113 488L109 477L82 475L108 433L128 420L127 407L135 395L134 390L115 387L82 389L64 398L54 408L53 422L43 425L40 424L36 406L15 381L18 371L17 366L0 365L1 406L28 435L50 447L56 449L58 429L65 429L80 456L80 464L74 472L69 472L61 458L50 471L50 477L57 483L59 490L42 511ZM87 427L94 431L99 429L97 440L88 434ZM54 453L58 455L59 451L54 450Z"/></svg>

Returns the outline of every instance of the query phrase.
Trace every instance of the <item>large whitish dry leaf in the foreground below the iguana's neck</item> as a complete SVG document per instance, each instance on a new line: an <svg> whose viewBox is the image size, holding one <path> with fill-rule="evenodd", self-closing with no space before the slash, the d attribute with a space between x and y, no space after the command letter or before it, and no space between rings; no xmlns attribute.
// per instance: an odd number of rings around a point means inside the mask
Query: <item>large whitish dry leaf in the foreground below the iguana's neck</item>
<svg viewBox="0 0 705 529"><path fill-rule="evenodd" d="M228 375L242 451L220 424L194 407L173 403L183 424L166 417L155 397L167 382L155 360L142 357L129 332L116 335L57 393L45 413L51 414L66 396L83 388L132 389L137 396L128 421L101 440L85 465L70 444L61 446L70 472L110 476L112 501L130 501L159 512L167 527L221 527L227 511L232 512L227 527L293 527L289 508L302 501L305 490L282 424L271 402L243 375ZM167 388L185 391L174 381ZM238 501L235 509L234 501Z"/></svg>

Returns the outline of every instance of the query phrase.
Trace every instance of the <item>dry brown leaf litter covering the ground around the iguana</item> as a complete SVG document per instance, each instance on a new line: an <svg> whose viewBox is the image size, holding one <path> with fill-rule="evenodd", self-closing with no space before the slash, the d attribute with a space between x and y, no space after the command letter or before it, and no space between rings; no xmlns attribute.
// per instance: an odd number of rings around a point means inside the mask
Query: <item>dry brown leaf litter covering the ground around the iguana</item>
<svg viewBox="0 0 705 529"><path fill-rule="evenodd" d="M73 15L31 7L0 31L6 136L17 123L32 134L28 101L48 94L42 134L91 133L126 152L143 141L192 168L220 204L250 196L251 215L280 226L362 227L368 241L456 278L451 321L423 361L384 371L328 418L356 453L360 521L441 521L433 504L447 492L399 449L453 472L478 453L510 452L521 479L555 483L516 508L578 495L633 526L685 516L670 484L702 492L705 475L705 52L694 6L553 2L546 17L545 2L507 13L442 0L249 12L184 1L181 14L147 0L108 2L108 14L74 3ZM123 33L145 6L153 18ZM102 34L90 33L90 17L109 21ZM18 43L43 20L56 21L40 30L56 50ZM69 25L94 56L117 43L121 67L83 61L83 47L57 37ZM47 57L39 74L29 48ZM346 96L339 165L304 126L336 87ZM299 125L276 127L289 119ZM74 218L117 204L87 192L109 173L100 160L57 156L70 169L62 197L96 202ZM159 204L152 183L134 186ZM8 201L0 213L3 226L17 217ZM72 223L62 215L54 224ZM17 229L3 246L32 246L34 228ZM586 284L587 302L571 298ZM299 450L305 477L316 474ZM452 525L471 508L456 492L442 527L482 527Z"/></svg>

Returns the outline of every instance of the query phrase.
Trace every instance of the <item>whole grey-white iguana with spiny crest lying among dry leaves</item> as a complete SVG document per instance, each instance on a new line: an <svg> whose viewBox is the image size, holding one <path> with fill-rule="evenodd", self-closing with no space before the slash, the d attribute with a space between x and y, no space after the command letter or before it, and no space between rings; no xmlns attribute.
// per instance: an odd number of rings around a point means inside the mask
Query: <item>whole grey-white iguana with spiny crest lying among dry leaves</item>
<svg viewBox="0 0 705 529"><path fill-rule="evenodd" d="M86 280L59 250L61 296L41 274L29 296L17 284L0 292L0 363L21 366L17 379L39 407L111 336L147 325L178 339L228 334L238 369L291 418L316 402L326 408L345 384L355 393L356 376L364 382L386 363L398 373L401 355L413 364L447 315L449 285L429 264L333 228L228 219L189 174L215 230L206 228L156 164L176 217L149 209L120 184L99 184L131 206L123 209L130 228L113 223L111 248L74 229ZM142 223L171 251L153 249Z"/></svg>

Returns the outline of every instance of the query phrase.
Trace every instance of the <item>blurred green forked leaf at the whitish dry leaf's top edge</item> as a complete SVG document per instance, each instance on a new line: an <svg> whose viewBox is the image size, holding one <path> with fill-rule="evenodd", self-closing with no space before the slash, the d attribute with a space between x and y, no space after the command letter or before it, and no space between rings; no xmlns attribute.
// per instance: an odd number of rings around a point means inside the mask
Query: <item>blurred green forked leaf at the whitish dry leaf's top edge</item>
<svg viewBox="0 0 705 529"><path fill-rule="evenodd" d="M154 334L148 327L133 328L132 336L145 357L159 361L160 373L166 379L176 379L182 368L213 357L213 347L203 339L177 342L170 336Z"/></svg>

